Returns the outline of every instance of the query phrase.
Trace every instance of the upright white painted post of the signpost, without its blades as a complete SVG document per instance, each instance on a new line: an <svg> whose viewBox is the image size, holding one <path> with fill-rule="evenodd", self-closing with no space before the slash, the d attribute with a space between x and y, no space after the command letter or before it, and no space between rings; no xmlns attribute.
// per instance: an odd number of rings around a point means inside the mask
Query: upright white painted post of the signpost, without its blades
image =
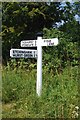
<svg viewBox="0 0 80 120"><path fill-rule="evenodd" d="M37 83L36 83L36 93L38 96L41 95L42 90L42 37L37 38Z"/></svg>

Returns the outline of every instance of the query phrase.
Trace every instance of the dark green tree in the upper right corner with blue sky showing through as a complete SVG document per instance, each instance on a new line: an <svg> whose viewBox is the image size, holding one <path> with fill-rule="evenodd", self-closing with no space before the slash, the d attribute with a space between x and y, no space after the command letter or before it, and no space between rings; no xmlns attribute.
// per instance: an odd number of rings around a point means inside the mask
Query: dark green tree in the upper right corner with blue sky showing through
<svg viewBox="0 0 80 120"><path fill-rule="evenodd" d="M80 3L79 2L73 4L68 3L67 5L68 5L67 10L71 14L68 13L68 16L66 17L70 18L70 20L64 22L64 24L59 29L61 31L64 31L68 37L71 37L70 41L78 42L80 38L79 36L80 20L77 21L75 16L78 15L78 17L80 18Z"/></svg>

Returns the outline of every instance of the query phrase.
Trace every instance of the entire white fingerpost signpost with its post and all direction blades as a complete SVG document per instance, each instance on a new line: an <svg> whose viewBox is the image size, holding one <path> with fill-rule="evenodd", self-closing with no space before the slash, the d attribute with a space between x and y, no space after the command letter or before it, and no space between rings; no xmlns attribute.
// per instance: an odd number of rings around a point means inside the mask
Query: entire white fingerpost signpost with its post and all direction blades
<svg viewBox="0 0 80 120"><path fill-rule="evenodd" d="M32 49L11 49L10 56L12 58L37 58L37 81L36 93L41 96L42 91L42 47L58 45L58 38L42 39L41 36L37 40L23 40L20 43L21 47L37 47L37 50Z"/></svg>

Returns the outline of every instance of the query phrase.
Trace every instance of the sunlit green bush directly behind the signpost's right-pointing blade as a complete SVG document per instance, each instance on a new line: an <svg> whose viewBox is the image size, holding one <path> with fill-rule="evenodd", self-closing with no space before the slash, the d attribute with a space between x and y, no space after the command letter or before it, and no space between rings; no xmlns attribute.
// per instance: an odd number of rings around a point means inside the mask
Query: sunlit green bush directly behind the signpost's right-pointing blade
<svg viewBox="0 0 80 120"><path fill-rule="evenodd" d="M78 43L71 42L70 37L58 29L43 29L44 38L58 38L59 44L43 47L43 67L56 73L62 72L66 66L78 66Z"/></svg>

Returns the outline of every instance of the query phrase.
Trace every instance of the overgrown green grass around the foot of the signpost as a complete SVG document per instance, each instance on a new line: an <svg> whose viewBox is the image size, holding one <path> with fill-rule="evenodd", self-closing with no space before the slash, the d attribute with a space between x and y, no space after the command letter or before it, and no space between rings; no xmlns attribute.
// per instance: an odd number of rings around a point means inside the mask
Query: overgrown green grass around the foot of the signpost
<svg viewBox="0 0 80 120"><path fill-rule="evenodd" d="M78 67L54 75L43 70L42 95L36 95L36 70L3 70L3 118L77 118Z"/></svg>

